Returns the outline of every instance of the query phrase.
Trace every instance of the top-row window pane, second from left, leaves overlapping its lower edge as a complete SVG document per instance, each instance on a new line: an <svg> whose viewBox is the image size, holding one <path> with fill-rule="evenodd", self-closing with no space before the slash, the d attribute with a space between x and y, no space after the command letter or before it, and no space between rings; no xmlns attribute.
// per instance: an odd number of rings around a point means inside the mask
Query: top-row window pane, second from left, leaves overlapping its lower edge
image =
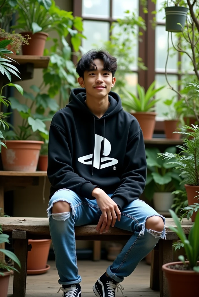
<svg viewBox="0 0 199 297"><path fill-rule="evenodd" d="M126 10L130 12L137 12L139 7L139 0L113 0L113 18L123 18Z"/></svg>

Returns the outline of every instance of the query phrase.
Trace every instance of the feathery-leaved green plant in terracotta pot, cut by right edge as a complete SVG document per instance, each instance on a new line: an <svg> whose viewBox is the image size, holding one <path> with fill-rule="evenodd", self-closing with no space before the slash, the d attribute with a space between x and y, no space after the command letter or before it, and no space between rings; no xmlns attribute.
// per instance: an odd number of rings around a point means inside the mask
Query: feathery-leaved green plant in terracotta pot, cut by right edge
<svg viewBox="0 0 199 297"><path fill-rule="evenodd" d="M187 191L188 205L191 206L196 201L194 199L199 192L199 127L198 125L192 127L182 127L187 132L175 132L189 136L190 138L182 138L183 146L176 146L180 149L178 154L165 152L158 154L163 157L163 160L170 160L167 165L175 165L176 169L181 171L180 176L183 178L183 184ZM191 217L194 222L196 211Z"/></svg>

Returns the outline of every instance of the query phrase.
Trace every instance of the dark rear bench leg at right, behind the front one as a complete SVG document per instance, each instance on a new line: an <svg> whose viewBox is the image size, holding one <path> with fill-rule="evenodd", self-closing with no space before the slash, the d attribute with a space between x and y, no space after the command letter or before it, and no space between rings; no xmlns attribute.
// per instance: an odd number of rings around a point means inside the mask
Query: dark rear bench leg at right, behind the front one
<svg viewBox="0 0 199 297"><path fill-rule="evenodd" d="M155 291L160 290L159 266L159 245L157 243L152 250L150 273L150 288Z"/></svg>

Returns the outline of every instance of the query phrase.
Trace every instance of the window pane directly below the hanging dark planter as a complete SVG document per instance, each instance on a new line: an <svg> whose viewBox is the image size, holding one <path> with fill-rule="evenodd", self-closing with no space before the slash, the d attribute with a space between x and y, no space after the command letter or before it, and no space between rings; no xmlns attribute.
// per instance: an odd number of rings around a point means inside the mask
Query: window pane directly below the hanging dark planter
<svg viewBox="0 0 199 297"><path fill-rule="evenodd" d="M170 33L170 32L169 32ZM177 71L178 52L174 50L171 43L171 34L169 34L169 57L167 62L167 71ZM168 32L165 26L156 26L155 29L155 69L156 71L164 71L167 57L167 38ZM174 44L176 37L172 35Z"/></svg>

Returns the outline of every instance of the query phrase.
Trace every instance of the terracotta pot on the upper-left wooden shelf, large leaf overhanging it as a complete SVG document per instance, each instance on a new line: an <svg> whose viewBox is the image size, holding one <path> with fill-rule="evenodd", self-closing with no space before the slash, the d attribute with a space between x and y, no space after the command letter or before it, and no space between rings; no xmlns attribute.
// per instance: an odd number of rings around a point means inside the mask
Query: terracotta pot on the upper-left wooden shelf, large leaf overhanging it
<svg viewBox="0 0 199 297"><path fill-rule="evenodd" d="M48 34L45 32L37 32L33 34L32 32L22 32L22 36L29 35L31 39L28 40L29 44L22 46L23 55L33 55L33 56L43 56L44 48L46 43L46 38Z"/></svg>

